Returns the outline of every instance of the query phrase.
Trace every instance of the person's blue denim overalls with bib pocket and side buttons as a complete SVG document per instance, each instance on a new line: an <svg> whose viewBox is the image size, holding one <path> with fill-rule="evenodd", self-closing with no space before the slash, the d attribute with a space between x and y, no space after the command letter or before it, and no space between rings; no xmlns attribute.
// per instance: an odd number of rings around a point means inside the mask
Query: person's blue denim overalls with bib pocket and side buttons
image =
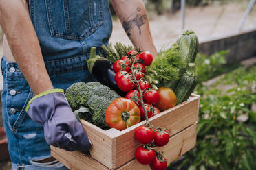
<svg viewBox="0 0 256 170"><path fill-rule="evenodd" d="M66 90L75 82L92 81L86 60L91 47L107 45L111 36L108 1L30 0L29 10L54 88ZM50 145L45 142L43 127L25 112L34 94L17 63L3 56L1 69L3 120L12 165L25 170L34 165L45 167L36 160L50 157Z"/></svg>

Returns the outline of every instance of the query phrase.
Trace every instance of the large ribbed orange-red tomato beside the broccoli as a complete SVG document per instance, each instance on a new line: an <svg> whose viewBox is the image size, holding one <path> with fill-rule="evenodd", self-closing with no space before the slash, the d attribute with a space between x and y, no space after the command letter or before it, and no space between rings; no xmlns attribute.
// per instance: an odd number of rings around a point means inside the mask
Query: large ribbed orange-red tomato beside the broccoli
<svg viewBox="0 0 256 170"><path fill-rule="evenodd" d="M124 130L140 122L140 109L131 99L114 99L107 106L105 121L110 128Z"/></svg>

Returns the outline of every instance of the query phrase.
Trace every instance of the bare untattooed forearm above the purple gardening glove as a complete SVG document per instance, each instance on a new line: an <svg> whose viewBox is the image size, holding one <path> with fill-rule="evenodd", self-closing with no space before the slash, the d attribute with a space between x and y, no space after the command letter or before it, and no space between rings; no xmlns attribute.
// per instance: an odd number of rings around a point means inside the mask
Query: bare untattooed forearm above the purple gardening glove
<svg viewBox="0 0 256 170"><path fill-rule="evenodd" d="M0 25L33 93L36 95L52 89L26 4L21 0L1 0Z"/></svg>

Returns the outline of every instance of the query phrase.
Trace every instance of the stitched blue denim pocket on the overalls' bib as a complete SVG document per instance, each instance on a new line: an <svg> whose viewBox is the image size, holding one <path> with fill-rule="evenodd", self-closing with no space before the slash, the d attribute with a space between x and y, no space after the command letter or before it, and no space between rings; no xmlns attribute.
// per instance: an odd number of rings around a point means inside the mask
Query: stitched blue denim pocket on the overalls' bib
<svg viewBox="0 0 256 170"><path fill-rule="evenodd" d="M103 1L45 0L50 33L54 37L83 40L103 25Z"/></svg>

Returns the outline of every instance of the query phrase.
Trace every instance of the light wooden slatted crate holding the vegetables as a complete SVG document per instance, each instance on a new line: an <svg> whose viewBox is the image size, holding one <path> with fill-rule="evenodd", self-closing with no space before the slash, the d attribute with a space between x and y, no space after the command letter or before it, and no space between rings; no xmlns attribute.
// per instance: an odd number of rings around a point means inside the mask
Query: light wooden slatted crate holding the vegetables
<svg viewBox="0 0 256 170"><path fill-rule="evenodd" d="M149 119L153 127L167 128L171 138L164 147L168 162L184 154L195 146L196 125L198 121L199 96L191 95L182 104L169 108ZM93 143L90 155L78 151L68 152L52 147L52 156L70 169L148 169L149 166L140 165L134 160L136 148L140 145L134 136L142 121L126 130L102 130L87 121L81 121L85 132Z"/></svg>

